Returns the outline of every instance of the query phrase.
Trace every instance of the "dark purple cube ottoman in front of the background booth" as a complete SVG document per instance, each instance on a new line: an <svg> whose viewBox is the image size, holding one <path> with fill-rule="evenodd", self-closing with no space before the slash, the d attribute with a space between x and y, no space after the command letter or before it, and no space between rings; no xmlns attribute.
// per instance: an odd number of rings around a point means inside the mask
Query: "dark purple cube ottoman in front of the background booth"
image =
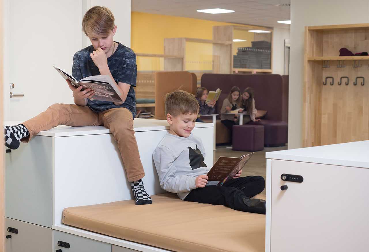
<svg viewBox="0 0 369 252"><path fill-rule="evenodd" d="M232 149L238 151L259 151L264 149L264 126L233 126Z"/></svg>

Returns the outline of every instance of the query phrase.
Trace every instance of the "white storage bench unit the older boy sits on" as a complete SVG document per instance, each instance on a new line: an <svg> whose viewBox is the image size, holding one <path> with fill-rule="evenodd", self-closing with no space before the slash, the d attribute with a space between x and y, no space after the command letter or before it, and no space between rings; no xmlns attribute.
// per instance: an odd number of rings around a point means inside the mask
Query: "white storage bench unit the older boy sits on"
<svg viewBox="0 0 369 252"><path fill-rule="evenodd" d="M14 125L19 122L6 122ZM145 169L145 189L161 189L152 153L169 131L165 120L135 119L135 136ZM213 165L213 124L196 123L193 134ZM115 140L103 126L58 126L5 153L6 252L128 252L165 249L116 239L62 224L66 207L133 198ZM154 202L155 203L155 202ZM139 207L139 206L138 206ZM68 240L70 248L58 241ZM73 246L72 246L73 244Z"/></svg>

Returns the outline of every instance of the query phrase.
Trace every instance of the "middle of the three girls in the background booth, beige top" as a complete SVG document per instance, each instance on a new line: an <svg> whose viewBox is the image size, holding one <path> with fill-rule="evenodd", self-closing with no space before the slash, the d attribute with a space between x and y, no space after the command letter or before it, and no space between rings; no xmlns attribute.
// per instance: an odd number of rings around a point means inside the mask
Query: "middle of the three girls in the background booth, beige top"
<svg viewBox="0 0 369 252"><path fill-rule="evenodd" d="M220 120L231 131L231 139L232 127L236 125L238 121L238 115L235 115L235 113L241 113L244 110L241 108L242 99L240 93L241 91L238 87L232 87L230 94L224 99L220 110ZM229 115L227 115L227 113L229 113Z"/></svg>

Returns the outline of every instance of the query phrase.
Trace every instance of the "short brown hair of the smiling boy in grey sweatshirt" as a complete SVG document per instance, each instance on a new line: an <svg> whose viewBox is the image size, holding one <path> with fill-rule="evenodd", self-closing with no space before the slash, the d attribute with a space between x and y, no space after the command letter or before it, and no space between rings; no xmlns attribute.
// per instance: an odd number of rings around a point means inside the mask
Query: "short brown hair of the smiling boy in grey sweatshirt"
<svg viewBox="0 0 369 252"><path fill-rule="evenodd" d="M187 91L177 90L165 95L165 115L192 115L198 114L199 102L195 96Z"/></svg>

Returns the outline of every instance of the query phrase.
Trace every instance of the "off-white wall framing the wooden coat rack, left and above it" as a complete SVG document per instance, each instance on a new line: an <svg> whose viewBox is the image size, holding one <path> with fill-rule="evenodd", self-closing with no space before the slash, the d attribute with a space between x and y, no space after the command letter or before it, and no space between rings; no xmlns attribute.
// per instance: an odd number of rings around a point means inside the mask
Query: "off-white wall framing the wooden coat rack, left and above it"
<svg viewBox="0 0 369 252"><path fill-rule="evenodd" d="M369 23L368 0L291 0L288 148L302 146L305 26L359 23Z"/></svg>

